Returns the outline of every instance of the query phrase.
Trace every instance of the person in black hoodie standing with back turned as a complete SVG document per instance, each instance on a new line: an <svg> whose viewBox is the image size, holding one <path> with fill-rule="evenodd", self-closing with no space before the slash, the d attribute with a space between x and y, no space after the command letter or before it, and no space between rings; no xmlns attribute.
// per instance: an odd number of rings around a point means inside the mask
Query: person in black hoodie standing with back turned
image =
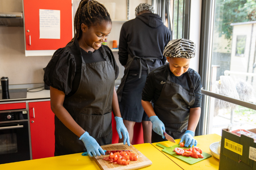
<svg viewBox="0 0 256 170"><path fill-rule="evenodd" d="M152 124L141 105L141 94L149 72L166 62L164 47L171 39L168 28L153 6L139 4L136 18L125 22L119 39L119 61L125 67L117 89L118 103L130 140L133 126L142 122L144 143L151 143Z"/></svg>

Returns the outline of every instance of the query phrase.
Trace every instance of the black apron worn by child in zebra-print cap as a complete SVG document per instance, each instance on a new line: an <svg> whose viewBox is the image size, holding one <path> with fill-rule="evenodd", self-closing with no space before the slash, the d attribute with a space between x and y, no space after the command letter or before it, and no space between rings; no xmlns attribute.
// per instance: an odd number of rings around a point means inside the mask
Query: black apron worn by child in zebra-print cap
<svg viewBox="0 0 256 170"><path fill-rule="evenodd" d="M165 125L165 132L174 139L181 139L185 134L188 127L189 108L195 102L193 82L188 72L184 74L187 74L190 91L185 90L177 83L171 82L169 73L162 92L154 103L155 114ZM151 140L154 143L166 139L152 131Z"/></svg>

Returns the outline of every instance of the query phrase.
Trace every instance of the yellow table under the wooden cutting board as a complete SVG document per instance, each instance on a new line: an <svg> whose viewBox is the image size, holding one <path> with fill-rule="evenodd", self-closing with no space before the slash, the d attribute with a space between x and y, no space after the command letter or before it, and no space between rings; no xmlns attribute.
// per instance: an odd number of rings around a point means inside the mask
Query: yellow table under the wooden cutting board
<svg viewBox="0 0 256 170"><path fill-rule="evenodd" d="M162 154L162 152L150 143L137 144L133 146L152 161L151 166L143 169L156 170L171 168L172 170L182 170L176 163ZM83 157L81 154L82 153L6 163L0 165L0 170L100 170L93 158L89 156Z"/></svg>

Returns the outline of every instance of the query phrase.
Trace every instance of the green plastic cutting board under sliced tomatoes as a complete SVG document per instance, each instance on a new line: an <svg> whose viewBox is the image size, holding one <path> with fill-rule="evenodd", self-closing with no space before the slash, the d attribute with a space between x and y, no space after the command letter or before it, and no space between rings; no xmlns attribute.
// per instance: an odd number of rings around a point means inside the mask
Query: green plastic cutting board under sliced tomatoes
<svg viewBox="0 0 256 170"><path fill-rule="evenodd" d="M206 152L203 152L204 158L198 158L198 159L192 158L192 157L185 157L185 156L182 156L182 155L178 155L178 154L176 154L176 152L173 151L174 148L176 148L176 147L186 148L186 147L180 147L180 144L176 144L176 145L171 146L171 147L166 147L166 146L163 146L160 143L157 143L157 146L163 148L162 151L165 152L166 154L172 155L173 157L178 158L181 161L184 161L184 162L188 163L189 165L193 165L193 164L195 164L197 162L203 161L204 159L207 159L207 158L211 157L211 155L207 154Z"/></svg>

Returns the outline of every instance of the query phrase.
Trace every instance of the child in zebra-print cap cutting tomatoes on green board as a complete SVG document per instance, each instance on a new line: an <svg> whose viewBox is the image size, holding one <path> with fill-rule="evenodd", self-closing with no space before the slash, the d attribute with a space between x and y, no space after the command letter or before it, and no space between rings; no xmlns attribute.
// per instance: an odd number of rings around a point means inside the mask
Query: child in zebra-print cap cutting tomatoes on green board
<svg viewBox="0 0 256 170"><path fill-rule="evenodd" d="M152 143L165 141L166 132L181 138L186 147L197 145L193 136L201 113L202 85L199 74L189 68L195 50L191 40L171 40L163 52L169 63L147 77L141 102L153 124Z"/></svg>

